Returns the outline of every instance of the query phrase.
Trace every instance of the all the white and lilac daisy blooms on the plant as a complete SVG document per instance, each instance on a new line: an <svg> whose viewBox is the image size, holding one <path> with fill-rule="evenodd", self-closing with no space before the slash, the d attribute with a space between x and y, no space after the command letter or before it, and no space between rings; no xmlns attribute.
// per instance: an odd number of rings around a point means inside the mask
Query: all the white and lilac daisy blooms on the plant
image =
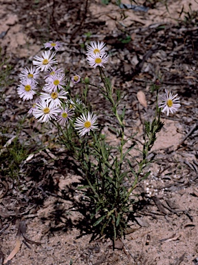
<svg viewBox="0 0 198 265"><path fill-rule="evenodd" d="M91 112L83 113L78 117L75 114L75 103L72 99L68 99L68 92L65 89L67 80L63 70L58 68L56 60L56 52L61 48L63 43L60 41L49 41L44 43L45 50L41 56L35 56L32 61L33 66L24 68L20 75L20 85L17 92L21 99L32 100L32 108L28 111L39 122L48 122L56 120L58 124L65 126L68 121L74 123L74 128L78 130L80 136L90 133L90 130L95 130L97 125L97 116ZM104 42L91 41L87 45L87 61L91 67L104 67L109 56ZM45 74L43 75L43 72ZM45 85L39 86L41 75L45 80ZM80 82L80 76L72 77L74 84ZM40 88L40 90L39 90ZM36 98L35 98L36 97ZM161 102L158 103L162 112L174 113L180 107L179 98L173 95L172 92L165 90L165 95L160 97Z"/></svg>

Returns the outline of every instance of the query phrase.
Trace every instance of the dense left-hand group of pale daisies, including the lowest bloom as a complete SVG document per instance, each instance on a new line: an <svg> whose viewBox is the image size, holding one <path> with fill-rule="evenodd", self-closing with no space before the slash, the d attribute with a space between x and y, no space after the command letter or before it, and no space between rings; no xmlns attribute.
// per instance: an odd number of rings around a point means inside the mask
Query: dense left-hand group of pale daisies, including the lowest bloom
<svg viewBox="0 0 198 265"><path fill-rule="evenodd" d="M76 117L75 106L81 102L78 100L74 102L68 98L69 95L65 89L67 86L65 74L57 66L56 51L61 46L60 41L44 43L44 47L48 50L42 52L41 57L34 57L33 66L21 71L17 92L23 101L33 101L32 108L28 113L38 119L39 122L55 120L59 125L65 126L70 120L74 122L74 128L78 130L79 135L83 136L98 128L96 126L97 116L87 112ZM55 51L51 51L53 48ZM45 80L45 85L42 88L39 85L41 75ZM77 84L80 81L80 76L75 75L72 77L72 81Z"/></svg>

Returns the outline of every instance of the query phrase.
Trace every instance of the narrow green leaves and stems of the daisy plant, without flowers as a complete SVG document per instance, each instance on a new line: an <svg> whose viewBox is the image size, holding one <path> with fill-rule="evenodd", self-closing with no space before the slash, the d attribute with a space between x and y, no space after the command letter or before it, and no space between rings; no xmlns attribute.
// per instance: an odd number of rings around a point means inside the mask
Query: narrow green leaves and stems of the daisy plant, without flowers
<svg viewBox="0 0 198 265"><path fill-rule="evenodd" d="M118 128L111 127L111 130L120 139L120 144L118 146L107 144L106 136L101 134L100 130L91 133L90 136L79 137L75 133L72 121L65 130L58 124L54 125L58 126L62 143L77 161L80 171L87 181L85 186L78 188L84 190L89 203L93 229L97 230L100 235L110 237L115 242L115 239L124 235L128 226L127 217L131 213L132 205L137 201L137 197L132 196L133 190L150 174L150 172L144 173L144 168L153 161L153 157L148 158L148 152L151 150L156 140L156 134L161 130L163 124L160 121L160 115L158 117L155 115L152 122L147 121L145 123L142 159L137 162L135 169L131 164L129 152L136 143L133 142L126 150L124 150L124 146L133 139L136 133L131 135L129 139L124 139L125 107L118 114L118 106L124 95L120 90L113 92L110 79L106 77L102 68L99 67L99 69L104 86L100 86L98 89L104 99L109 101L112 114L118 121ZM85 103L90 85L86 82L81 97ZM153 92L154 90L156 87ZM76 104L76 110L79 113L86 112L85 109L90 110L90 106L83 108ZM158 108L156 113L160 113ZM127 181L129 182L128 186L126 185Z"/></svg>

